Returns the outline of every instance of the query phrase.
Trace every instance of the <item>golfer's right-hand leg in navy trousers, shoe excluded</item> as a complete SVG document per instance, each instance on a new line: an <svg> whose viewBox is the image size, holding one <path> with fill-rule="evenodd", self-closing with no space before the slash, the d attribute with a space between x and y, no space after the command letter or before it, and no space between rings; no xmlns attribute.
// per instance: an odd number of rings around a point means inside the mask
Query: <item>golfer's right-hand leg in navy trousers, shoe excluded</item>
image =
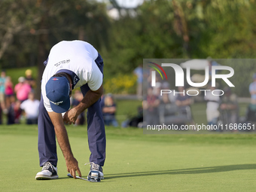
<svg viewBox="0 0 256 192"><path fill-rule="evenodd" d="M87 84L81 87L83 95L90 90ZM87 109L87 134L90 148L90 162L103 166L105 162L105 125L100 99Z"/></svg>

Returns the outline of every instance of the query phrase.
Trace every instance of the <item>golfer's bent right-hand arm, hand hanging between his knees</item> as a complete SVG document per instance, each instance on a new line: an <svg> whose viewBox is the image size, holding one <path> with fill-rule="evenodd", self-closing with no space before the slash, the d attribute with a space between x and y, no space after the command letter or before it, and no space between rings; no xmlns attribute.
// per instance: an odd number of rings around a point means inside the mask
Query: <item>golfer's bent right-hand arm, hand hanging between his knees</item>
<svg viewBox="0 0 256 192"><path fill-rule="evenodd" d="M84 99L82 99L81 102L77 106L75 106L75 108L71 108L69 109L69 111L66 111L66 114L63 117L64 122L69 124L75 124L78 115L81 114L81 112L83 112L85 109L89 108L90 105L93 105L93 103L98 101L99 98L102 96L102 93L103 85L101 85L98 90L88 90L84 96Z"/></svg>

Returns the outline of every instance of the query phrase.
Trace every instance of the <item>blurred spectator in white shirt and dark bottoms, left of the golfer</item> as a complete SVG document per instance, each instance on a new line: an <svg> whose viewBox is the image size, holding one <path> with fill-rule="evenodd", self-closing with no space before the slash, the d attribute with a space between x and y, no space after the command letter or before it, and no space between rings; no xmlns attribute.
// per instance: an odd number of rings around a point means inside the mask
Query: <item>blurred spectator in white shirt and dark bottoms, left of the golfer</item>
<svg viewBox="0 0 256 192"><path fill-rule="evenodd" d="M30 92L29 99L26 99L20 104L20 108L25 111L27 124L38 123L39 103L40 102L35 99L35 94Z"/></svg>

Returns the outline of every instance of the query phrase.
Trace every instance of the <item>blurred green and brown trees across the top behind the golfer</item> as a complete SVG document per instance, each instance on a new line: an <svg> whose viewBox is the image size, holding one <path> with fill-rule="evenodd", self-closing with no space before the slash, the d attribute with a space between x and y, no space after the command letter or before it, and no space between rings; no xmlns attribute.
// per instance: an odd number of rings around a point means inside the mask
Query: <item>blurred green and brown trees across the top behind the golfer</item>
<svg viewBox="0 0 256 192"><path fill-rule="evenodd" d="M255 57L254 0L151 0L133 10L110 2L118 20L108 17L109 5L93 0L0 1L0 68L38 66L40 82L50 47L81 39L104 58L106 91L133 93L135 86L117 88L117 77L131 76L145 58Z"/></svg>

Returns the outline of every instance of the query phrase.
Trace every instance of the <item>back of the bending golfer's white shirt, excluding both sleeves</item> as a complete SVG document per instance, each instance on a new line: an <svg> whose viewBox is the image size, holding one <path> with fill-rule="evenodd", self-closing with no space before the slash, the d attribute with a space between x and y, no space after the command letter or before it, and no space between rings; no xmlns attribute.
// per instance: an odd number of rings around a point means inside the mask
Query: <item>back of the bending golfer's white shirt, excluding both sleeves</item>
<svg viewBox="0 0 256 192"><path fill-rule="evenodd" d="M98 51L85 41L60 41L50 50L42 83L47 82L56 72L66 69L75 72L78 78L84 78L84 82L76 86L80 87L87 83L90 72L98 69L94 62L97 56Z"/></svg>

